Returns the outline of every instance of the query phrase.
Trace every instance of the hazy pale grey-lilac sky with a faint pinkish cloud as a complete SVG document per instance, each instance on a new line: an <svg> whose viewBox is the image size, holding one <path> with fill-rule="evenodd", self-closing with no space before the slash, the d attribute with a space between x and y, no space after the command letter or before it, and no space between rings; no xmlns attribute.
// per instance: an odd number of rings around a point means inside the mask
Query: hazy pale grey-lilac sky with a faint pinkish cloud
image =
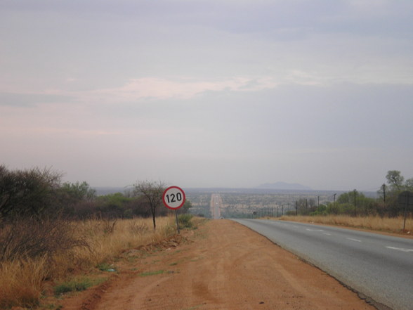
<svg viewBox="0 0 413 310"><path fill-rule="evenodd" d="M413 177L411 0L1 0L0 164L63 181Z"/></svg>

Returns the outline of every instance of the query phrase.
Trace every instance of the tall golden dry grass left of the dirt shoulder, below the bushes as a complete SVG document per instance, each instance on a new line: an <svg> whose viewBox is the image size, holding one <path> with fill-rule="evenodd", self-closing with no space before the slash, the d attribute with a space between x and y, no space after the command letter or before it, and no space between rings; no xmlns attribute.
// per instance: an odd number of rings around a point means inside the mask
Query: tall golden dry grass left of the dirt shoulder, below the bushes
<svg viewBox="0 0 413 310"><path fill-rule="evenodd" d="M72 233L80 234L88 246L32 259L0 261L0 309L12 306L33 308L39 304L46 279L63 280L77 271L87 272L104 264L130 247L156 243L176 233L173 217L157 219L93 219L72 223Z"/></svg>

